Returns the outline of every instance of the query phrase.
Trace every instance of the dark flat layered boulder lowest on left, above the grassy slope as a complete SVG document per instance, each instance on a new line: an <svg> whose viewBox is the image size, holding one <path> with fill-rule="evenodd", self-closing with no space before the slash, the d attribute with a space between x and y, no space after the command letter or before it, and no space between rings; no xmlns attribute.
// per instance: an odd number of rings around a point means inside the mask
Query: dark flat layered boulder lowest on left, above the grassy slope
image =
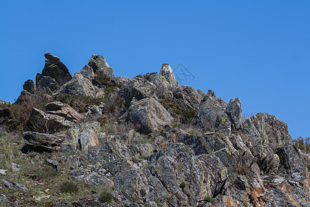
<svg viewBox="0 0 310 207"><path fill-rule="evenodd" d="M65 135L48 135L39 132L23 132L23 139L26 146L31 150L54 151L60 150L65 140Z"/></svg>

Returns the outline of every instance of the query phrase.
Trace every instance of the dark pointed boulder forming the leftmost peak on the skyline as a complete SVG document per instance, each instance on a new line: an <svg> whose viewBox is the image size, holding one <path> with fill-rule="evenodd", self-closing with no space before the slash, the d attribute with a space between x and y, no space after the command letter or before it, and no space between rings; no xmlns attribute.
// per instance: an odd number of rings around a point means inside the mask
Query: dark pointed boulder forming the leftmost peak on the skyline
<svg viewBox="0 0 310 207"><path fill-rule="evenodd" d="M59 83L59 86L63 86L63 84L67 83L72 79L68 68L61 62L59 57L50 54L50 52L45 52L44 56L45 66L42 70L42 73L37 74L37 85L43 76L52 77L57 83Z"/></svg>

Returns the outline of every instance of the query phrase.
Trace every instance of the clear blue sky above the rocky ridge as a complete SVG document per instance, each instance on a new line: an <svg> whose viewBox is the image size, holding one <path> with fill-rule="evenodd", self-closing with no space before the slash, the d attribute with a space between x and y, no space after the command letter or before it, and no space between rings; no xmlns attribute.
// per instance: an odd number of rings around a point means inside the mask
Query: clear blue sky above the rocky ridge
<svg viewBox="0 0 310 207"><path fill-rule="evenodd" d="M182 63L183 84L310 137L310 1L0 1L0 99L60 57L72 75L103 55L116 76ZM178 70L180 71L180 70Z"/></svg>

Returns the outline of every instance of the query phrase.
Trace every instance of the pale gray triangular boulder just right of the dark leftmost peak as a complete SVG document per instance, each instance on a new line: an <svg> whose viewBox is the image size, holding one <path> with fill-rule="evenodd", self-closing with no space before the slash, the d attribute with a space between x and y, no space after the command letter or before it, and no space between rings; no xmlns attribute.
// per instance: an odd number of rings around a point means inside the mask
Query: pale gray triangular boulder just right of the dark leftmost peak
<svg viewBox="0 0 310 207"><path fill-rule="evenodd" d="M65 85L61 86L61 88L54 94L54 96L63 93L77 96L96 96L96 90L94 89L92 82L90 82L89 79L84 78L83 75L81 75L79 72L76 72L74 77L68 83L65 83Z"/></svg>

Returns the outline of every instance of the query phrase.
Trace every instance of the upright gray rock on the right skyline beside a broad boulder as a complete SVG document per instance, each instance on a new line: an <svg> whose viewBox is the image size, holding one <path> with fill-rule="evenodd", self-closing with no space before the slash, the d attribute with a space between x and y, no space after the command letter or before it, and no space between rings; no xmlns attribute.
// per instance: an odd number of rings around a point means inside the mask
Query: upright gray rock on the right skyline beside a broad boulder
<svg viewBox="0 0 310 207"><path fill-rule="evenodd" d="M239 98L231 99L225 110L234 130L238 130L242 124L242 108Z"/></svg>

